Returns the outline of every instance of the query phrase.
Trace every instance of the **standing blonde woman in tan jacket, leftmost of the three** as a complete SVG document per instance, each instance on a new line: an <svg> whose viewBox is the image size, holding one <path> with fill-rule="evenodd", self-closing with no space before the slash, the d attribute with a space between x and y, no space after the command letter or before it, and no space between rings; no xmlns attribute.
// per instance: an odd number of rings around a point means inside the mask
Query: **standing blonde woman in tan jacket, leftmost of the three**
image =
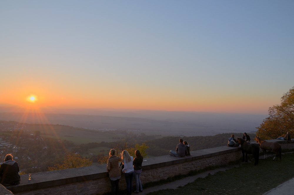
<svg viewBox="0 0 294 195"><path fill-rule="evenodd" d="M118 166L118 161L121 161L120 157L115 155L115 149L111 149L109 152L109 158L107 161L107 172L109 172L109 178L111 181L111 194L118 194L118 182L121 179L121 169Z"/></svg>

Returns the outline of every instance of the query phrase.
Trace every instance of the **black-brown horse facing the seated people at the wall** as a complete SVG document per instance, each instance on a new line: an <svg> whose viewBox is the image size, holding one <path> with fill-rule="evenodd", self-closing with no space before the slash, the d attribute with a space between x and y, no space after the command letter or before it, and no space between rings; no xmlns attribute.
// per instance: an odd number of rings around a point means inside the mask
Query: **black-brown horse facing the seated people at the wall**
<svg viewBox="0 0 294 195"><path fill-rule="evenodd" d="M257 144L253 144L253 143L249 144L246 142L245 139L241 139L240 137L238 137L237 141L241 145L241 150L242 150L242 154L243 154L242 162L244 162L244 153L246 154L246 161L245 162L248 162L247 154L252 154L255 159L254 165L257 165L258 160L259 160L259 146Z"/></svg>

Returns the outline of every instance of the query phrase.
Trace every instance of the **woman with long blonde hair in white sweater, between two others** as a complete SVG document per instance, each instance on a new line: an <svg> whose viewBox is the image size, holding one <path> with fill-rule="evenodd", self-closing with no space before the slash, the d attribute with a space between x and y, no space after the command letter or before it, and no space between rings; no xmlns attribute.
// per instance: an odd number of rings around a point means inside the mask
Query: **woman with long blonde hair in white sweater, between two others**
<svg viewBox="0 0 294 195"><path fill-rule="evenodd" d="M131 195L133 190L133 177L134 177L133 157L130 156L128 151L124 150L121 154L121 159L124 165L122 172L125 173L125 178L127 183L127 195Z"/></svg>

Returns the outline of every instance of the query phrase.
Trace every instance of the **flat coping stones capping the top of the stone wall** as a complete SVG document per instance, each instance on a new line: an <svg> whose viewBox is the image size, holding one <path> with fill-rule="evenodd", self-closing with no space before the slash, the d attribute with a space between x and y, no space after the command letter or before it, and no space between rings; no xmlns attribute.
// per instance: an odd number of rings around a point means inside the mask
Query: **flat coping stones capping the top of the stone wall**
<svg viewBox="0 0 294 195"><path fill-rule="evenodd" d="M294 141L284 141L280 139L266 140L268 142L289 143ZM191 151L188 157L171 157L170 155L146 158L142 163L142 170L149 170L168 165L190 162L197 159L213 157L220 154L241 151L239 147L220 146L202 150ZM33 189L47 188L51 186L59 186L91 179L99 179L107 177L106 164L100 164L88 167L79 167L73 169L62 169L56 171L47 171L32 173L31 180L28 180L29 174L21 175L21 182L16 186L6 186L7 189L16 193Z"/></svg>

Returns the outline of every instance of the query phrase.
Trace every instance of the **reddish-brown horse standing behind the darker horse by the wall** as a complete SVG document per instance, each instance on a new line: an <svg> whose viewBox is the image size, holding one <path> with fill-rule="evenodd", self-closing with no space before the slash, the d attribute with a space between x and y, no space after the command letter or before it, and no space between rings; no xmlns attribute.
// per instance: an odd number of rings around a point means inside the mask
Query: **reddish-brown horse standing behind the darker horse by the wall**
<svg viewBox="0 0 294 195"><path fill-rule="evenodd" d="M275 157L273 158L273 160L275 160L276 157L277 158L279 157L279 160L282 160L282 155L281 155L282 148L278 142L267 142L257 136L255 136L255 139L256 139L256 143L260 144L260 148L262 149L264 153L264 159L266 158L266 151L273 150L273 152L275 153Z"/></svg>

